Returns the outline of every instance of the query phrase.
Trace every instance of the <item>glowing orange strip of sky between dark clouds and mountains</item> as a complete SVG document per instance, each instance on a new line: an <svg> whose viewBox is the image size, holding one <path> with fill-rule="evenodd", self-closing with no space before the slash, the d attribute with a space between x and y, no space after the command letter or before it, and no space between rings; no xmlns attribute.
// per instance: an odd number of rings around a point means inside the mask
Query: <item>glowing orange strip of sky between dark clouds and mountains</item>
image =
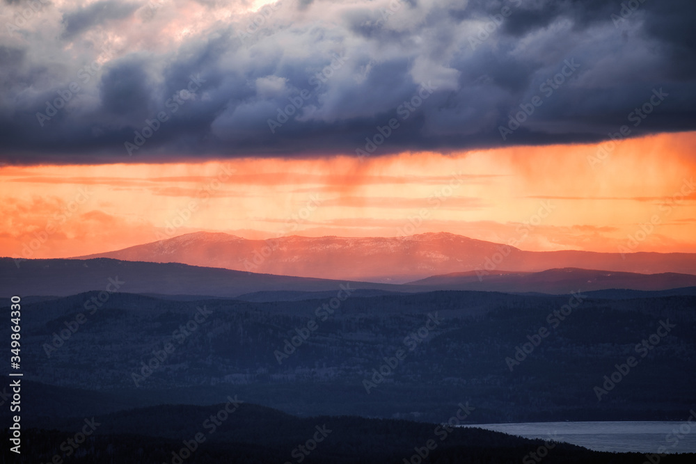
<svg viewBox="0 0 696 464"><path fill-rule="evenodd" d="M525 250L615 252L651 219L657 225L635 250L696 253L694 147L690 132L623 141L603 159L599 145L556 145L363 162L3 166L0 255L86 255L198 230L247 238L445 231Z"/></svg>

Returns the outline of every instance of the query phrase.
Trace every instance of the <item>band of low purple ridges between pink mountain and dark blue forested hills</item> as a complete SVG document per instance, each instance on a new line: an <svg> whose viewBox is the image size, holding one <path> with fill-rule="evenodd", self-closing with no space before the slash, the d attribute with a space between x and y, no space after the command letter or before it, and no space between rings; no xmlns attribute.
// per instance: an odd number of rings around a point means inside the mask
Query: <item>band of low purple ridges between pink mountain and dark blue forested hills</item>
<svg viewBox="0 0 696 464"><path fill-rule="evenodd" d="M0 296L68 296L91 290L153 296L215 296L246 301L301 301L333 298L341 289L351 296L413 294L436 290L568 294L571 291L669 290L696 287L696 275L638 274L587 269L548 269L525 273L493 271L434 275L395 285L258 274L180 263L132 262L109 258L0 258ZM345 294L344 294L345 295Z"/></svg>

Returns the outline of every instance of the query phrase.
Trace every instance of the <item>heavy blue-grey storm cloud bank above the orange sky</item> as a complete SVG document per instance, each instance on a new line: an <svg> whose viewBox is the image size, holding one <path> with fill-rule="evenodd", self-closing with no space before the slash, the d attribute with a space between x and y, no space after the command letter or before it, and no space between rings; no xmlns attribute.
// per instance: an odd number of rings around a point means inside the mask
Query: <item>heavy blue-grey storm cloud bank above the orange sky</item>
<svg viewBox="0 0 696 464"><path fill-rule="evenodd" d="M696 128L690 0L285 1L225 21L226 2L193 3L208 23L180 41L171 24L184 10L162 1L150 15L115 1L68 8L54 42L2 35L3 161L356 154L385 128L370 156ZM93 33L127 45L85 82ZM161 37L168 46L148 42ZM535 97L541 106L501 135Z"/></svg>

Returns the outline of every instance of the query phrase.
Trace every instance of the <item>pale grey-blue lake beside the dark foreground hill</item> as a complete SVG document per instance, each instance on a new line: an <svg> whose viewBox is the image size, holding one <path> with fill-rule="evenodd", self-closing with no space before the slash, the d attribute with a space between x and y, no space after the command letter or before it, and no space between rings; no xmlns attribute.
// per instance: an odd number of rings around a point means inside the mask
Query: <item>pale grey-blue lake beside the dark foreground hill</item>
<svg viewBox="0 0 696 464"><path fill-rule="evenodd" d="M523 438L556 440L594 449L657 453L696 452L696 422L530 422L519 424L477 424L492 431Z"/></svg>

